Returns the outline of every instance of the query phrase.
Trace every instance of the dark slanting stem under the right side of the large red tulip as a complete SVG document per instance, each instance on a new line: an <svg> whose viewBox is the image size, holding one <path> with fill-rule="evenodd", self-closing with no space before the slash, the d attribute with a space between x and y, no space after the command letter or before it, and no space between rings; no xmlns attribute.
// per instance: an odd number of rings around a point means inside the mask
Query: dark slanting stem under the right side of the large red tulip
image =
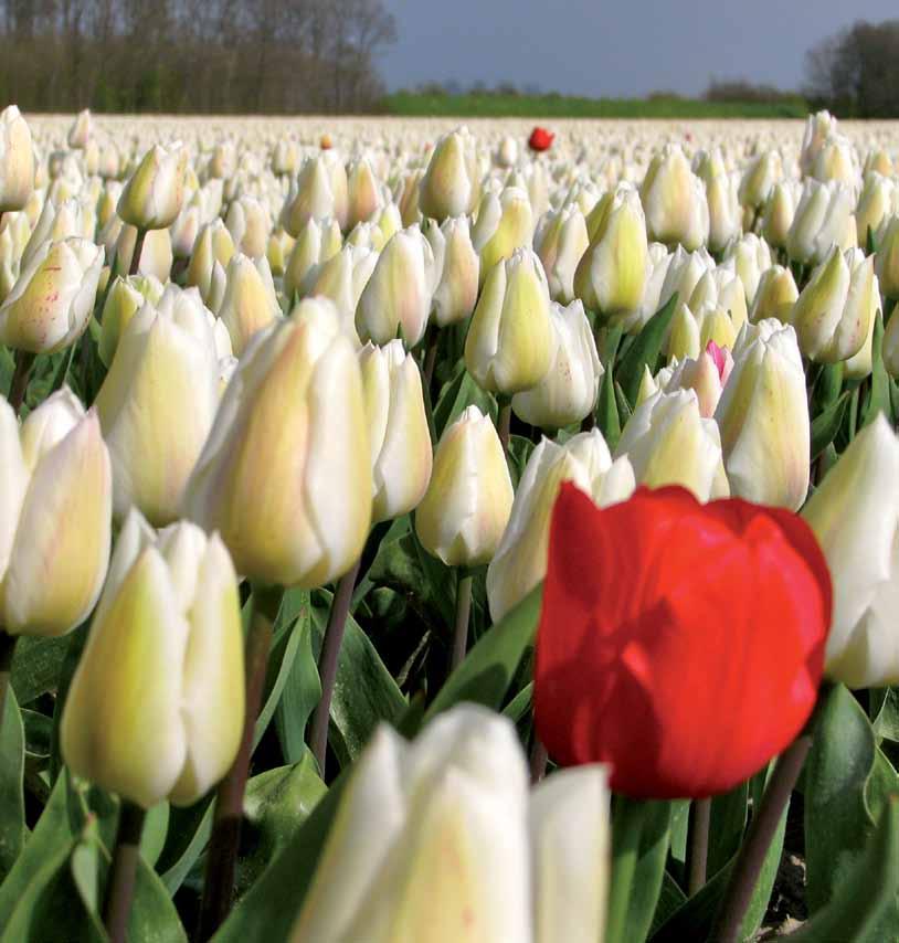
<svg viewBox="0 0 899 943"><path fill-rule="evenodd" d="M749 826L745 841L730 873L728 888L709 937L711 943L736 943L738 940L740 925L752 900L765 855L811 746L811 734L802 733L778 760L759 805L759 813Z"/></svg>

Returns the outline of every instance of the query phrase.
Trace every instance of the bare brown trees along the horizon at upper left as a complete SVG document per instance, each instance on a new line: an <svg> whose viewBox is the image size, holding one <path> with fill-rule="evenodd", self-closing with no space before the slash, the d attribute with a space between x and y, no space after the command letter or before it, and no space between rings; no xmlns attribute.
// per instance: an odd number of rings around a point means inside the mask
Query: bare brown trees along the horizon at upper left
<svg viewBox="0 0 899 943"><path fill-rule="evenodd" d="M0 0L0 99L36 112L367 112L395 36L381 0Z"/></svg>

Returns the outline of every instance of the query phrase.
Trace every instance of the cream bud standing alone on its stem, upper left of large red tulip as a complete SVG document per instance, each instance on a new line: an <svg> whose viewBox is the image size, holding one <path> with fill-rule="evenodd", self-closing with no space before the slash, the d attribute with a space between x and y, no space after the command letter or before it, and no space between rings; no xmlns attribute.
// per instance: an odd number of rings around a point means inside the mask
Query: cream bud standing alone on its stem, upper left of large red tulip
<svg viewBox="0 0 899 943"><path fill-rule="evenodd" d="M512 506L506 455L489 416L477 406L446 428L427 491L415 512L419 540L447 566L489 562Z"/></svg>

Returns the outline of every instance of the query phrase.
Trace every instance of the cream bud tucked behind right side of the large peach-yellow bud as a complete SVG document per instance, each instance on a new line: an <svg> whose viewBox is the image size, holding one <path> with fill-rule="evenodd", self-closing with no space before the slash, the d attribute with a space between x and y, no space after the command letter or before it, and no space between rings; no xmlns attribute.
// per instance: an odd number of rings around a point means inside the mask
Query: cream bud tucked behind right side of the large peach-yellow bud
<svg viewBox="0 0 899 943"><path fill-rule="evenodd" d="M417 507L431 479L422 378L399 340L383 348L367 345L359 361L374 483L372 520L390 520Z"/></svg>

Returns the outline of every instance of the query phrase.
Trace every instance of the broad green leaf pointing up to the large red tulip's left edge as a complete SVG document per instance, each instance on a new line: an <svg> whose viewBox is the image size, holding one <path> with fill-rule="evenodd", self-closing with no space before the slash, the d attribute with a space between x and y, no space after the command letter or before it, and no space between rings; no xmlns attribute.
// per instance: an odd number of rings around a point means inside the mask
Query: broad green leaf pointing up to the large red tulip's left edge
<svg viewBox="0 0 899 943"><path fill-rule="evenodd" d="M434 698L425 721L459 701L499 709L521 658L533 644L542 596L541 583L475 643Z"/></svg>

